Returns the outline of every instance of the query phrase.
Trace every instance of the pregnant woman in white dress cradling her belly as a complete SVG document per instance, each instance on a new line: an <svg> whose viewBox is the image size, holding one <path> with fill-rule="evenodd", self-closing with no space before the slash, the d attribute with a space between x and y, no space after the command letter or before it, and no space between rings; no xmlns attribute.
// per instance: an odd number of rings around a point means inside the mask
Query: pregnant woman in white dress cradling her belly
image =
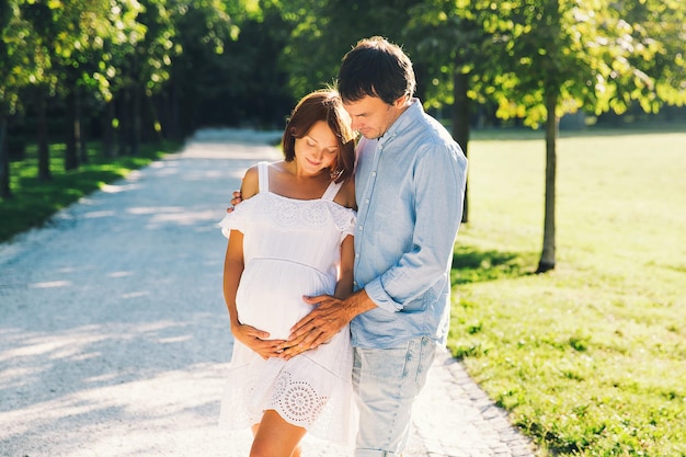
<svg viewBox="0 0 686 457"><path fill-rule="evenodd" d="M229 238L224 296L235 336L220 425L251 427L250 455L298 457L307 432L350 444L356 432L348 328L283 357L304 296L353 290L354 140L335 91L306 95L282 138L285 159L249 169ZM293 343L290 343L293 344Z"/></svg>

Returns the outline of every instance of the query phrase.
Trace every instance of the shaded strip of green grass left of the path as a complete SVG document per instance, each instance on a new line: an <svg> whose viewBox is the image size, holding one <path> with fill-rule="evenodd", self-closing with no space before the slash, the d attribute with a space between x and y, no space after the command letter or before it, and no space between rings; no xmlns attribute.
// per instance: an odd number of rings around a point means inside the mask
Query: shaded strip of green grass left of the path
<svg viewBox="0 0 686 457"><path fill-rule="evenodd" d="M15 235L44 225L59 209L111 183L126 176L132 170L142 168L164 153L174 152L179 144L145 145L137 157L105 159L96 144L89 147L89 163L78 170L64 171L64 144L50 145L53 179L37 179L36 147L30 146L26 159L11 163L12 198L0 198L0 242Z"/></svg>

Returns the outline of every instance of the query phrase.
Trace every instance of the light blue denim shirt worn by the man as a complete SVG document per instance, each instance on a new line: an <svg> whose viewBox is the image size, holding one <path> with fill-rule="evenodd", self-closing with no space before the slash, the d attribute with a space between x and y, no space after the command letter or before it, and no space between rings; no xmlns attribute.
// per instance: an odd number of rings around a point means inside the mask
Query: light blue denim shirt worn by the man
<svg viewBox="0 0 686 457"><path fill-rule="evenodd" d="M353 345L445 344L467 158L415 99L381 138L361 139L355 173L355 289L377 307L351 322Z"/></svg>

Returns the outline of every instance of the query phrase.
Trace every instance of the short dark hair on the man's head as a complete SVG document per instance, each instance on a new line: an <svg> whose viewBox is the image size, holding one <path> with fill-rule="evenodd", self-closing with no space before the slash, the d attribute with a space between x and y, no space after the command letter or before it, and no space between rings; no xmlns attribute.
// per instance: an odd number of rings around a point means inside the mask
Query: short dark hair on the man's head
<svg viewBox="0 0 686 457"><path fill-rule="evenodd" d="M391 105L403 95L414 94L412 61L402 49L381 36L362 39L344 57L339 69L338 89L344 102L366 95Z"/></svg>

